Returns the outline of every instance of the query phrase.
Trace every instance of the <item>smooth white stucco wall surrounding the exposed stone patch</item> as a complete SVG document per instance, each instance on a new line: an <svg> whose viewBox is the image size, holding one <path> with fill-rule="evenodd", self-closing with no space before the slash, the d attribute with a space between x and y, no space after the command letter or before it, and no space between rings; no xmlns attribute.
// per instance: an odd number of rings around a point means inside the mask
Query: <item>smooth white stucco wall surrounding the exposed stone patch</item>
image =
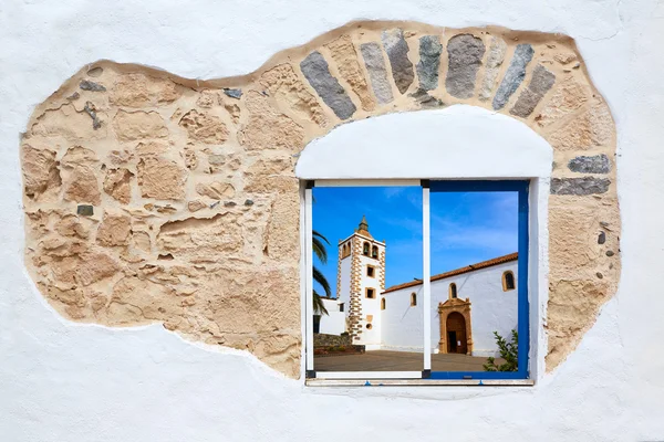
<svg viewBox="0 0 664 442"><path fill-rule="evenodd" d="M45 304L22 263L19 137L37 104L97 59L239 75L360 18L577 39L616 120L623 271L615 298L556 372L540 371L533 388L312 389L246 352L185 343L160 326L73 324ZM664 439L663 19L658 0L2 2L0 440L425 441L442 428L450 440ZM402 150L383 154L412 165ZM546 294L546 281L537 284ZM343 424L330 424L330 410Z"/></svg>

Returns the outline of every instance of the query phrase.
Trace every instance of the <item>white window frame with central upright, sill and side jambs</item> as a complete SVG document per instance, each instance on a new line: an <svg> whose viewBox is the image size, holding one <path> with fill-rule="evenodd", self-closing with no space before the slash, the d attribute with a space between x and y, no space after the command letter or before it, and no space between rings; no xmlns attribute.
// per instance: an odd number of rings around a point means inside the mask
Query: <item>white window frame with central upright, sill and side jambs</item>
<svg viewBox="0 0 664 442"><path fill-rule="evenodd" d="M436 180L459 180L453 177L435 178ZM510 178L499 177L483 177L474 178L474 180L509 180ZM513 178L512 178L513 179ZM428 180L421 179L310 179L302 181L303 183L311 182L312 186L302 187L302 208L303 217L301 217L300 225L304 230L301 263L301 275L304 284L301 286L303 314L302 314L302 332L305 336L305 345L302 348L302 369L304 383L310 387L331 387L331 386L505 386L505 387L532 387L536 385L536 379L543 372L543 356L541 348L546 344L543 338L542 323L540 319L539 309L546 305L546 288L547 278L540 275L542 272L542 263L539 260L539 254L542 253L540 241L542 238L546 242L548 232L547 225L547 199L549 191L548 179L540 182L538 178L516 178L529 180L529 212L528 212L528 232L529 241L527 261L527 284L529 287L530 299L530 351L528 354L528 367L530 376L525 379L430 379L425 376L426 371L430 372L430 315L424 315L424 346L423 346L423 371L314 371L313 365L313 297L311 290L313 288L313 266L312 255L312 188L315 187L421 187L423 189L423 307L430 309L430 234L429 234L429 217L430 217L430 190L424 183ZM538 202L541 202L539 204ZM425 206L426 204L426 206ZM426 209L426 210L425 210ZM301 236L302 238L302 236ZM537 251L537 252L533 252ZM543 293L543 295L542 295ZM313 377L310 377L310 372Z"/></svg>

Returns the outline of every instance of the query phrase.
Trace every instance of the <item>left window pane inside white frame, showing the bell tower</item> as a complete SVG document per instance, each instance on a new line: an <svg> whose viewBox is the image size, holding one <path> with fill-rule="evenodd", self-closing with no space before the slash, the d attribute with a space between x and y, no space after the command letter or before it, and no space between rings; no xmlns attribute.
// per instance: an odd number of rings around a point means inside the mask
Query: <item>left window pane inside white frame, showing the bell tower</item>
<svg viewBox="0 0 664 442"><path fill-rule="evenodd" d="M421 371L422 189L314 187L312 213L314 370Z"/></svg>

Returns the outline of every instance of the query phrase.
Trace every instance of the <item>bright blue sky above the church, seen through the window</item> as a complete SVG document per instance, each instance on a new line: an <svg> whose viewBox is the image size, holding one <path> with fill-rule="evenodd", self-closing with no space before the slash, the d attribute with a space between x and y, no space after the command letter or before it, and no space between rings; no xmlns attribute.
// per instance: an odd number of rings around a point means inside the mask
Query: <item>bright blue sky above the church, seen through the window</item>
<svg viewBox="0 0 664 442"><path fill-rule="evenodd" d="M386 242L386 281L392 286L422 277L419 187L314 188L313 229L325 235L328 263L315 259L336 293L336 245L366 215L369 231ZM517 251L516 192L430 194L432 274ZM322 293L322 291L320 291Z"/></svg>

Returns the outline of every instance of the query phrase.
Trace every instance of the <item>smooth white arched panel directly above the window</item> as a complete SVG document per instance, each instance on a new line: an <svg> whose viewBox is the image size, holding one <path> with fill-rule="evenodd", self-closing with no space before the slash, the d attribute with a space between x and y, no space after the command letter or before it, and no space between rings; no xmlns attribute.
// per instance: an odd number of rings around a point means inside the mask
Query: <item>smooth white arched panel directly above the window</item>
<svg viewBox="0 0 664 442"><path fill-rule="evenodd" d="M551 146L526 124L456 105L336 127L300 155L302 179L544 178Z"/></svg>

